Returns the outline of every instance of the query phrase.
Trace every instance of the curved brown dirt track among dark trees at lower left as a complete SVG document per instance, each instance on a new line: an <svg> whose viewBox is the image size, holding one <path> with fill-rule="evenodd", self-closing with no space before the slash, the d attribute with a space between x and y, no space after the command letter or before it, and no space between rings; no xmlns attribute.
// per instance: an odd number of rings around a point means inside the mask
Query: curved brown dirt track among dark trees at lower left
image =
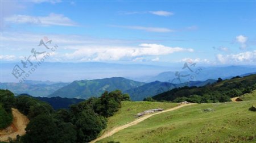
<svg viewBox="0 0 256 143"><path fill-rule="evenodd" d="M29 120L15 108L11 108L11 110L13 113L13 123L11 123L10 127L1 130L3 135L0 136L0 141L8 141L9 137L15 139L18 134L19 136L22 136L26 133L25 128L27 127Z"/></svg>

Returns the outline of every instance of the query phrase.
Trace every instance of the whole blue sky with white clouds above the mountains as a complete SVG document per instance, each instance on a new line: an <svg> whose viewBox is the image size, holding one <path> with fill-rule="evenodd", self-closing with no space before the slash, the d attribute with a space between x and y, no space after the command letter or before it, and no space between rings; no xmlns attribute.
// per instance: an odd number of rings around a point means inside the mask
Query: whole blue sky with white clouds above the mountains
<svg viewBox="0 0 256 143"><path fill-rule="evenodd" d="M0 20L1 62L256 65L256 1L1 0Z"/></svg>

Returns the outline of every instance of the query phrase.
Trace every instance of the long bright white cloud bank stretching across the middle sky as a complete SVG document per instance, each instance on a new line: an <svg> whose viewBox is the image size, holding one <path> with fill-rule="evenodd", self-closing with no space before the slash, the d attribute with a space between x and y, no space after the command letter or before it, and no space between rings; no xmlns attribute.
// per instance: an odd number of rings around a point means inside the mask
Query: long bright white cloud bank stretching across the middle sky
<svg viewBox="0 0 256 143"><path fill-rule="evenodd" d="M193 52L193 49L166 47L159 44L140 44L139 47L87 47L79 48L65 57L81 59L82 61L121 60L142 56L160 56L174 52Z"/></svg>

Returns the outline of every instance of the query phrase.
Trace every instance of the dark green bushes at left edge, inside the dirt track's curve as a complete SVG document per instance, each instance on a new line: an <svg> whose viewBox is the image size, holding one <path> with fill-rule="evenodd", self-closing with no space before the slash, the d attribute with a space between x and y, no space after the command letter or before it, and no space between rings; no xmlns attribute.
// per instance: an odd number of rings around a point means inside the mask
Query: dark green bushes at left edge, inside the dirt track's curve
<svg viewBox="0 0 256 143"><path fill-rule="evenodd" d="M7 113L0 104L0 129L3 129L11 124L13 121L13 115Z"/></svg>

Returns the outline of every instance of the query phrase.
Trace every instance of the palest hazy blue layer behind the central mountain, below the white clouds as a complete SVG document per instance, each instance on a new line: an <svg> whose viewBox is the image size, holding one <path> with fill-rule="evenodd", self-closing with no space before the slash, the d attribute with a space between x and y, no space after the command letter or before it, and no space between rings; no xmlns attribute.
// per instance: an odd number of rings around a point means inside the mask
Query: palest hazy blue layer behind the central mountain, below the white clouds
<svg viewBox="0 0 256 143"><path fill-rule="evenodd" d="M20 63L1 63L0 82L19 82L11 71ZM44 62L28 79L34 81L73 82L84 79L125 77L135 81L146 81L158 73L170 70L170 67L146 64L113 64L106 62Z"/></svg>

